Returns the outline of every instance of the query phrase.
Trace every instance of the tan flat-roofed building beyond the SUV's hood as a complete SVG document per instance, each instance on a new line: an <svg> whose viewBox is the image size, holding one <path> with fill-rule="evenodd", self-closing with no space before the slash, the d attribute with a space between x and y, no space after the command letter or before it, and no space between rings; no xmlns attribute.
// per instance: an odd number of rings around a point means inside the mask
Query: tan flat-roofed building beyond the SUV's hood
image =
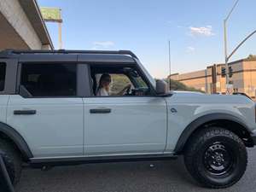
<svg viewBox="0 0 256 192"><path fill-rule="evenodd" d="M248 96L256 96L256 61L236 61L230 64L233 69L233 76L230 81L233 82L233 89L235 92L243 92ZM216 66L216 90L218 93L226 92L226 79L221 76L221 68L223 64ZM183 84L194 87L198 90L212 93L212 66L207 67L206 70L174 74L171 79L178 80Z"/></svg>

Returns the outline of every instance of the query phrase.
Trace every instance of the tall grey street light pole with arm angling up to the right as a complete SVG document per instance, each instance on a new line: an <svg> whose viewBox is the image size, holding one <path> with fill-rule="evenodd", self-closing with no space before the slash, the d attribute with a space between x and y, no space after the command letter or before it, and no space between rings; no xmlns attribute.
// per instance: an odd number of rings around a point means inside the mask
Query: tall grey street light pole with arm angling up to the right
<svg viewBox="0 0 256 192"><path fill-rule="evenodd" d="M232 9L230 10L229 15L224 19L224 56L225 56L225 68L226 68L226 86L230 84L230 75L229 75L229 57L228 57L228 38L227 38L227 21L230 19L230 15L236 8L237 3L239 0L236 0L236 3L233 5Z"/></svg>

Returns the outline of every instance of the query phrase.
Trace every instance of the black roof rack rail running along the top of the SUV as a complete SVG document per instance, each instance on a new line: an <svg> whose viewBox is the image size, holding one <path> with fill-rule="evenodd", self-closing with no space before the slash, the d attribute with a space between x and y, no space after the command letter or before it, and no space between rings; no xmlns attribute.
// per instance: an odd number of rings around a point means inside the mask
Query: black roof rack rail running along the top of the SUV
<svg viewBox="0 0 256 192"><path fill-rule="evenodd" d="M131 52L131 50L68 50L68 49L56 49L56 50L18 50L18 49L5 49L0 52L0 57L14 55L14 54L119 54L119 55L131 55L137 59L137 55Z"/></svg>

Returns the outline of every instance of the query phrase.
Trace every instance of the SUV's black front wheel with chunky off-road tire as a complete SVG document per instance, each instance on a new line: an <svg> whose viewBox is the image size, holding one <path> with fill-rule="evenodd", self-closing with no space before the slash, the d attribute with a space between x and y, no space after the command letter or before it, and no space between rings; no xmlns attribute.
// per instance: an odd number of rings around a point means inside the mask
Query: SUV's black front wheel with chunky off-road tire
<svg viewBox="0 0 256 192"><path fill-rule="evenodd" d="M239 137L219 127L196 132L186 144L184 162L192 177L208 188L235 184L247 167L247 149Z"/></svg>

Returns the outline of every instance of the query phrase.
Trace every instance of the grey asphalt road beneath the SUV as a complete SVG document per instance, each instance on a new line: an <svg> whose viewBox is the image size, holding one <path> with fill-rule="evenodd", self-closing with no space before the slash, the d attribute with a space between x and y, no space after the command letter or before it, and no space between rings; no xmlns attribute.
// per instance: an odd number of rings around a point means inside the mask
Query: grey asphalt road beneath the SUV
<svg viewBox="0 0 256 192"><path fill-rule="evenodd" d="M189 176L183 158L55 167L48 172L26 169L17 192L253 192L256 191L256 148L249 149L247 172L229 189L204 189ZM154 165L154 166L151 166Z"/></svg>

